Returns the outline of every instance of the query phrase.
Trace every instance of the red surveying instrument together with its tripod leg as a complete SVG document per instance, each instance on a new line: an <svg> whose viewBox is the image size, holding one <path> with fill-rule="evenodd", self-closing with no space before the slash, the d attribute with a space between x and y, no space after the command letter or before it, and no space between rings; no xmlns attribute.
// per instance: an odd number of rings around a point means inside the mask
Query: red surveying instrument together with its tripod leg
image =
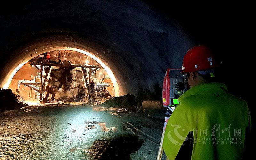
<svg viewBox="0 0 256 160"><path fill-rule="evenodd" d="M165 113L165 122L160 141L160 146L157 154L157 160L162 159L163 155L163 141L166 124L172 115L173 110L179 104L178 98L187 90L187 84L185 84L185 75L180 74L182 69L168 68L165 72L163 83L163 106L167 108ZM167 158L168 159L168 158Z"/></svg>

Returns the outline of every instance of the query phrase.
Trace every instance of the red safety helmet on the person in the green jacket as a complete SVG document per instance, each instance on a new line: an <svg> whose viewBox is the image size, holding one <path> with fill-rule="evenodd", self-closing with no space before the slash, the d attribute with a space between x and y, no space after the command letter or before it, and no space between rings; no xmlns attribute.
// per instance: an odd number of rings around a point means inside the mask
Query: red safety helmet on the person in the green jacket
<svg viewBox="0 0 256 160"><path fill-rule="evenodd" d="M204 45L192 47L184 56L181 74L219 67L220 60Z"/></svg>

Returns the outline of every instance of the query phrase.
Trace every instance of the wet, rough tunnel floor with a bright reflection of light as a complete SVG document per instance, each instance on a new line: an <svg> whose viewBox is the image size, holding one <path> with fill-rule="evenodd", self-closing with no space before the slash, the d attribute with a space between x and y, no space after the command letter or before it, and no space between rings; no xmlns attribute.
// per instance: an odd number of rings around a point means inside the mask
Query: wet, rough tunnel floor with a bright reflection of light
<svg viewBox="0 0 256 160"><path fill-rule="evenodd" d="M32 107L33 108L33 107ZM164 116L40 106L0 114L0 159L156 159Z"/></svg>

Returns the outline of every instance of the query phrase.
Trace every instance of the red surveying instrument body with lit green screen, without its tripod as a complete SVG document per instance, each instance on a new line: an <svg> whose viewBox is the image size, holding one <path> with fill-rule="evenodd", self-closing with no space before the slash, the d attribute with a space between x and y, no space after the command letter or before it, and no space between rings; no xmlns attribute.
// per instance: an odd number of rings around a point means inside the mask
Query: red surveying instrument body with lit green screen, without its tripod
<svg viewBox="0 0 256 160"><path fill-rule="evenodd" d="M187 90L184 83L185 75L180 74L181 69L168 68L165 72L163 83L163 106L176 107L178 98ZM173 110L173 109L172 109Z"/></svg>

